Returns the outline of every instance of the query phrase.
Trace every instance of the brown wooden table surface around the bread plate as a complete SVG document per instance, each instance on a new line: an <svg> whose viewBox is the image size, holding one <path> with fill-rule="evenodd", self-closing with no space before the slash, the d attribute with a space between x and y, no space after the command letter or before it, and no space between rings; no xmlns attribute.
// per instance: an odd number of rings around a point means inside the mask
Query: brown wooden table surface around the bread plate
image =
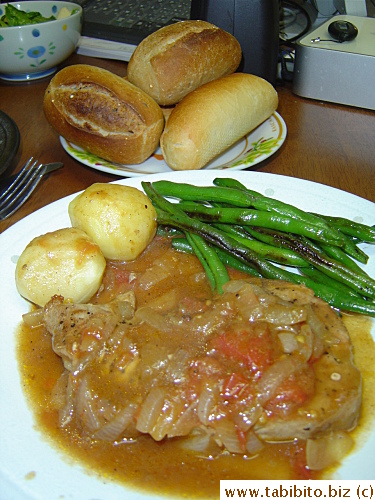
<svg viewBox="0 0 375 500"><path fill-rule="evenodd" d="M66 64L86 63L126 75L126 64L73 54ZM64 168L42 180L32 197L9 219L0 233L31 212L94 182L119 177L86 167L71 158L47 123L42 102L49 79L27 83L0 82L0 109L17 123L21 143L17 171L30 156ZM327 184L375 202L375 114L371 111L300 98L289 86L278 86L278 112L288 135L280 150L256 166L261 172L288 175ZM317 207L318 208L318 207Z"/></svg>

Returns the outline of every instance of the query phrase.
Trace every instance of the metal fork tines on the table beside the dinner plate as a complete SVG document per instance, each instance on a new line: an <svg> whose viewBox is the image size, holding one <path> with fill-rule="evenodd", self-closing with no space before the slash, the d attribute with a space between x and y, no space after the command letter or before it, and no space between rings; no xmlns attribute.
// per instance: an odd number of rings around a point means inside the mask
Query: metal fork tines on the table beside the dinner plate
<svg viewBox="0 0 375 500"><path fill-rule="evenodd" d="M33 157L20 170L12 184L0 195L0 220L5 220L16 212L29 198L39 184L46 165Z"/></svg>

